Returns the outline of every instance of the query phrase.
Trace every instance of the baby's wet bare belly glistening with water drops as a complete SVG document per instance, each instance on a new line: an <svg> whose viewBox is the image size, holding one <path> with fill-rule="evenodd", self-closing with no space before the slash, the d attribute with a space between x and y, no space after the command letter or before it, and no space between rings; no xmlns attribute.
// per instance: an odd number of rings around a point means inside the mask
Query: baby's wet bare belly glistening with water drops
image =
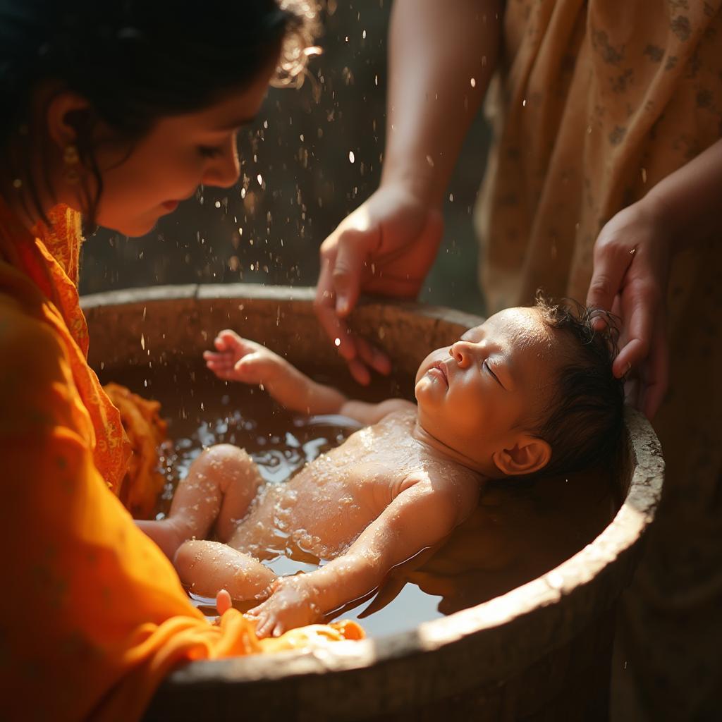
<svg viewBox="0 0 722 722"><path fill-rule="evenodd" d="M289 548L333 559L378 516L348 484L303 482L269 484L229 544L261 560Z"/></svg>

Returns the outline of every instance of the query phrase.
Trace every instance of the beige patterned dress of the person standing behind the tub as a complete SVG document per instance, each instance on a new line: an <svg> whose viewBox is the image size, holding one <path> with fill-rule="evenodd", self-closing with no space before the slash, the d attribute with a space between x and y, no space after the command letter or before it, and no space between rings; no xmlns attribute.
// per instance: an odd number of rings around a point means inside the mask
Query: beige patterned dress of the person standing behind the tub
<svg viewBox="0 0 722 722"><path fill-rule="evenodd" d="M490 313L537 287L583 301L604 223L722 136L721 4L508 0L477 209ZM721 318L716 235L671 269L666 486L622 614L617 718L722 718Z"/></svg>

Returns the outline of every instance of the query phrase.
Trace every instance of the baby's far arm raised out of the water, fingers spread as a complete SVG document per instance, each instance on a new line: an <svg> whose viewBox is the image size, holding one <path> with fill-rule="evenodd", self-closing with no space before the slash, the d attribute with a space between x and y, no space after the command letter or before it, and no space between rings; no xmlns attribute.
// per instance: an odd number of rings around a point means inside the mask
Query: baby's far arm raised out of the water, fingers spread
<svg viewBox="0 0 722 722"><path fill-rule="evenodd" d="M336 388L316 383L277 353L235 331L221 331L217 351L204 352L206 366L227 381L260 384L282 406L303 414L344 414L362 424L373 424L410 401L388 399L380 404L349 401Z"/></svg>

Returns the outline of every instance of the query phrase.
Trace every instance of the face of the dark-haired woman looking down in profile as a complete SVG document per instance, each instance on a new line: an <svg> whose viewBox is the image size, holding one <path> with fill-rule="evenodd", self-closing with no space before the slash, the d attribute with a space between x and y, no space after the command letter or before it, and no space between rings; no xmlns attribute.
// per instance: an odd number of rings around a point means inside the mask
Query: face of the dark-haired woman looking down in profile
<svg viewBox="0 0 722 722"><path fill-rule="evenodd" d="M173 212L201 183L226 188L238 180L236 134L261 108L273 68L238 95L205 110L161 118L133 144L97 142L95 157L103 178L97 223L137 236ZM64 194L77 191L65 186ZM79 208L77 197L61 198Z"/></svg>

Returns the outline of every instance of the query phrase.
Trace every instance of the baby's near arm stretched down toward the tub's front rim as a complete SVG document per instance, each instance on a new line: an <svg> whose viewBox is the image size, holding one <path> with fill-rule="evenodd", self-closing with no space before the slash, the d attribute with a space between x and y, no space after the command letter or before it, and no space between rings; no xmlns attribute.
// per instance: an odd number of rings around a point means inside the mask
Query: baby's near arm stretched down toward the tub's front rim
<svg viewBox="0 0 722 722"><path fill-rule="evenodd" d="M318 621L380 586L392 567L451 533L474 508L479 484L463 479L409 479L341 557L308 574L277 579L269 599L248 614L260 637Z"/></svg>

